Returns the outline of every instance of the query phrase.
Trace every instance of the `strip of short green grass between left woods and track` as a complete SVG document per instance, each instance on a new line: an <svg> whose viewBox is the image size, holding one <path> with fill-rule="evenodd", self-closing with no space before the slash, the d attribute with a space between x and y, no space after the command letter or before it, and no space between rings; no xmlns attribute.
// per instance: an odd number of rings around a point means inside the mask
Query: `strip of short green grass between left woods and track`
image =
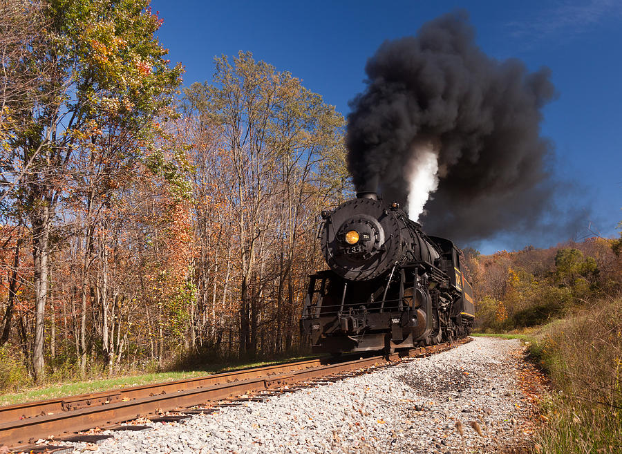
<svg viewBox="0 0 622 454"><path fill-rule="evenodd" d="M141 386L153 383L162 383L165 381L202 377L204 375L211 375L218 372L271 366L274 364L287 363L290 361L305 361L306 359L312 359L315 357L317 357L317 355L307 357L291 357L287 359L276 359L274 361L213 364L207 366L206 368L198 368L198 370L189 370L183 372L153 372L140 375L128 375L124 377L92 379L86 381L73 381L69 383L46 385L36 388L29 388L20 392L7 392L5 394L2 394L0 395L0 406L20 404L23 402L36 400L55 399L57 397L86 394L88 392L99 392L113 390L117 388L126 388L128 386Z"/></svg>

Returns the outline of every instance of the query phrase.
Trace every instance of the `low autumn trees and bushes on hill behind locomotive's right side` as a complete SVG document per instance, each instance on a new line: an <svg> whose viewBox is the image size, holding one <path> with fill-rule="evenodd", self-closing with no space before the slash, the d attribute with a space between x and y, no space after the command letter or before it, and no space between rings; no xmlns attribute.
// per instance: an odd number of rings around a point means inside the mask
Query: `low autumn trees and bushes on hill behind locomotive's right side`
<svg viewBox="0 0 622 454"><path fill-rule="evenodd" d="M482 256L465 249L478 328L502 332L547 323L622 292L622 238L587 238Z"/></svg>

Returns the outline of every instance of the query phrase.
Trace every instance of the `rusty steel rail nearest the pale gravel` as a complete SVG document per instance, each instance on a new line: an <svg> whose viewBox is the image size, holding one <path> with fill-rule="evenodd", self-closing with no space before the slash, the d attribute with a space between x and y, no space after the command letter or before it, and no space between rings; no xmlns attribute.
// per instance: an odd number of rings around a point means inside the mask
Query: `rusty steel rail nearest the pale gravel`
<svg viewBox="0 0 622 454"><path fill-rule="evenodd" d="M449 350L449 348L457 344L442 343L436 346L415 348L405 352L390 354L388 357L376 356L332 364L321 364L321 360L317 360L318 363L314 366L310 366L310 364L316 360L301 361L301 363L290 363L290 366L300 366L298 368L290 368L290 370L279 371L279 368L283 369L285 368L284 366L287 366L279 365L257 368L255 370L236 371L229 374L220 374L220 383L205 384L200 379L189 379L188 381L194 385L182 387L173 392L162 392L162 388L160 388L160 392L156 392L158 387L154 385L149 386L151 395L111 401L108 404L65 410L50 415L39 414L17 420L8 420L1 417L0 446L14 446L17 451L21 446L31 444L41 438L58 437L90 428L111 426L137 417L155 415L165 411L178 410L183 413L183 408L229 399L248 392L260 392L319 377L369 368L382 363L392 363L398 361L400 357L428 356L435 352ZM258 372L259 369L264 370L263 376L245 375L246 372ZM183 386L181 382L185 381L178 381L178 384ZM160 384L160 386L169 388L171 383L173 382ZM131 389L126 388L126 390ZM126 394L126 396L129 396L129 394ZM45 405L48 405L48 401L44 402L46 402ZM37 402L29 404L32 407ZM5 413L5 415L8 414Z"/></svg>

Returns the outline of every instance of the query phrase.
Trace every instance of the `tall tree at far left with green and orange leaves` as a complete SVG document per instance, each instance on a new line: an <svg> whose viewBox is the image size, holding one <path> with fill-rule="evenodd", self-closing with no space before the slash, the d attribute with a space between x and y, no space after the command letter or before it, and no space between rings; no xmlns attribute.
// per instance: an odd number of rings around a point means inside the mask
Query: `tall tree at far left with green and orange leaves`
<svg viewBox="0 0 622 454"><path fill-rule="evenodd" d="M160 19L148 6L147 0L52 0L43 9L50 23L44 44L32 46L22 57L25 70L48 68L35 87L49 93L46 97L24 96L11 104L14 120L7 143L12 159L5 168L8 180L15 182L28 167L17 191L19 210L32 229L37 377L44 374L50 227L66 196L71 171L75 163L89 162L90 167L80 165L77 170L82 172L79 178L89 179L80 188L90 217L97 209L95 195L114 180L113 169L153 142L153 120L170 103L180 80L180 67L169 68L167 52L153 36ZM77 154L82 160L74 160ZM93 226L86 229L88 257ZM83 268L88 262L85 258ZM87 291L83 279L83 299ZM84 308L83 302L83 339ZM84 357L84 341L81 348Z"/></svg>

